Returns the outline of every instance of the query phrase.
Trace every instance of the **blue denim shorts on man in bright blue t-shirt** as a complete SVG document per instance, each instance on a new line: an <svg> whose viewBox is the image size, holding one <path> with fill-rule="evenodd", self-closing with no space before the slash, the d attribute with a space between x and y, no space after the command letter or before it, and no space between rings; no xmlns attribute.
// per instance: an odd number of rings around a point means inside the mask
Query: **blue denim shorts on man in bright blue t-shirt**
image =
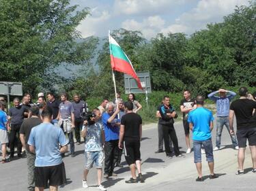
<svg viewBox="0 0 256 191"><path fill-rule="evenodd" d="M214 162L213 150L212 150L212 139L208 139L205 141L195 141L193 140L193 148L194 148L194 162L201 162L201 147L205 150L206 161Z"/></svg>

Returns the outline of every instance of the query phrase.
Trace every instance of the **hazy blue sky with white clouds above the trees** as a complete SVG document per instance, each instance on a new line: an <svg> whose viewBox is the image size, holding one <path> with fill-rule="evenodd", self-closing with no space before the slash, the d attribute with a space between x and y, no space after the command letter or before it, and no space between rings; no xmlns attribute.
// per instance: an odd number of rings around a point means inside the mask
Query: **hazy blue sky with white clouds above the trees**
<svg viewBox="0 0 256 191"><path fill-rule="evenodd" d="M71 0L89 7L91 16L77 28L83 37L105 37L114 29L138 30L147 39L157 33L182 32L190 35L207 23L221 22L236 5L248 0Z"/></svg>

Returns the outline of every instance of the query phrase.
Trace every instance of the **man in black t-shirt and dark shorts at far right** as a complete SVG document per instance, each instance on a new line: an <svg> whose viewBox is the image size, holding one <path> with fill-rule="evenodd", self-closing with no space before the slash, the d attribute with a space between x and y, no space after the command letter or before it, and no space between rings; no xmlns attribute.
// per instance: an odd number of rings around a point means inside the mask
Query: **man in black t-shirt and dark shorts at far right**
<svg viewBox="0 0 256 191"><path fill-rule="evenodd" d="M251 150L253 160L253 173L256 173L256 118L253 117L253 109L256 109L256 102L246 99L248 90L246 87L239 89L240 99L233 101L229 109L230 134L234 135L233 117L236 115L238 138L238 171L236 175L244 174L244 153L246 140Z"/></svg>

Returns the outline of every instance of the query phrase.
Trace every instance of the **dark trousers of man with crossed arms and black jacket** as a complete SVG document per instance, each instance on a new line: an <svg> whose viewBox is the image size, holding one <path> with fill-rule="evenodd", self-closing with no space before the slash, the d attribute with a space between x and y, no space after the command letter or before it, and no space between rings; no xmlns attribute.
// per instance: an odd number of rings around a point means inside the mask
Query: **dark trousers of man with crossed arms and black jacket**
<svg viewBox="0 0 256 191"><path fill-rule="evenodd" d="M164 133L165 153L167 155L171 155L171 149L170 149L170 145L169 145L170 144L169 137L171 137L171 141L173 141L173 149L175 152L175 156L179 156L180 149L179 149L179 145L177 143L177 135L176 135L173 124L169 124L169 125L162 124L162 131Z"/></svg>

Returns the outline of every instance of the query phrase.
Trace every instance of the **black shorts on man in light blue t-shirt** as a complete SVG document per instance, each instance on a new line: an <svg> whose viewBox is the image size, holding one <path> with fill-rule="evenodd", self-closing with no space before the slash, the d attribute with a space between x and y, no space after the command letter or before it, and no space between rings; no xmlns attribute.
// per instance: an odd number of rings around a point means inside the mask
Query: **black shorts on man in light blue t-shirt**
<svg viewBox="0 0 256 191"><path fill-rule="evenodd" d="M35 186L46 187L60 186L66 183L66 171L64 163L50 167L35 167Z"/></svg>

